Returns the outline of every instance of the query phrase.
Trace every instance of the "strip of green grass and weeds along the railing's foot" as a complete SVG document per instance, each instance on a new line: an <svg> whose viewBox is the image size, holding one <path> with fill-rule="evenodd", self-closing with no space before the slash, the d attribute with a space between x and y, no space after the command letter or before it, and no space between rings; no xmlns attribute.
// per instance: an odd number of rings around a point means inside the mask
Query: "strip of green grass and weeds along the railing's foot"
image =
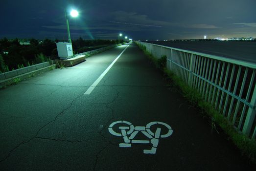
<svg viewBox="0 0 256 171"><path fill-rule="evenodd" d="M211 119L210 125L212 130L215 129L217 131L216 125L219 126L233 141L234 145L241 151L242 155L247 156L252 163L256 164L256 141L237 131L227 118L215 110L210 103L203 100L202 95L199 94L197 90L188 86L173 72L168 70L165 67L166 57L163 56L161 59L156 59L146 51L145 46L139 45L139 47L148 56L151 62L163 72L165 79L169 82L169 85L172 86L171 89L181 92L186 100L192 104L193 107L196 107L204 117L207 116Z"/></svg>

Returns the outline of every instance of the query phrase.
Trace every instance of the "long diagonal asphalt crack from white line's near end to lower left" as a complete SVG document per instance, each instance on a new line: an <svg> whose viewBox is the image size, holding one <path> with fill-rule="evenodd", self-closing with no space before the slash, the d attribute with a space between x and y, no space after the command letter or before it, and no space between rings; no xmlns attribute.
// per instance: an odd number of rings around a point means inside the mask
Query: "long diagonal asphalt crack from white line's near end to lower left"
<svg viewBox="0 0 256 171"><path fill-rule="evenodd" d="M6 159L11 155L11 153L12 153L14 150L18 149L18 148L19 148L20 146L22 146L23 144L26 144L26 143L30 142L32 139L36 138L37 135L39 134L39 132L40 132L43 128L45 128L45 127L46 127L47 125L49 125L50 123L56 121L57 118L58 118L62 113L64 113L66 110L68 110L68 109L72 106L73 102L74 102L76 99L78 99L80 96L83 96L83 94L81 94L81 95L77 96L76 98L74 98L74 100L72 100L72 102L70 103L70 106L69 106L69 107L63 109L60 113L58 113L58 114L55 116L55 118L54 118L53 120L49 121L49 122L48 122L47 124L45 124L43 127L39 128L39 130L36 132L36 134L35 134L33 137L31 137L30 139L28 139L28 140L26 140L26 141L21 142L19 145L17 145L17 146L14 147L12 150L10 150L10 151L8 152L8 154L7 154L2 160L0 160L0 163L3 162L4 160L6 160Z"/></svg>

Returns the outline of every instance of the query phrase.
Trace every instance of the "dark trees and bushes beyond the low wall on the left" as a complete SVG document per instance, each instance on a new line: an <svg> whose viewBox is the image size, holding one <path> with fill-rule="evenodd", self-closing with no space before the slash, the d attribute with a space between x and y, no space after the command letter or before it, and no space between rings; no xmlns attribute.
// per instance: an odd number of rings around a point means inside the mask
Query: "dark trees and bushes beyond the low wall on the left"
<svg viewBox="0 0 256 171"><path fill-rule="evenodd" d="M0 39L0 73L56 60L58 59L56 43L65 42L49 39L42 41L29 39L28 41L27 45L21 45L18 39ZM73 53L77 54L117 43L118 40L83 40L79 38L72 41L72 47Z"/></svg>

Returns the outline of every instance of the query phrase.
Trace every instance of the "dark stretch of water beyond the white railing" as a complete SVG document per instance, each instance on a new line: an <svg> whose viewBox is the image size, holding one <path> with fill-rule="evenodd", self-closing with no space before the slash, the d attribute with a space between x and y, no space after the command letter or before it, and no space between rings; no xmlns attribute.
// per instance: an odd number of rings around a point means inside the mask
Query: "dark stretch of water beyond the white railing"
<svg viewBox="0 0 256 171"><path fill-rule="evenodd" d="M148 41L195 52L217 55L256 64L256 42L232 41Z"/></svg>

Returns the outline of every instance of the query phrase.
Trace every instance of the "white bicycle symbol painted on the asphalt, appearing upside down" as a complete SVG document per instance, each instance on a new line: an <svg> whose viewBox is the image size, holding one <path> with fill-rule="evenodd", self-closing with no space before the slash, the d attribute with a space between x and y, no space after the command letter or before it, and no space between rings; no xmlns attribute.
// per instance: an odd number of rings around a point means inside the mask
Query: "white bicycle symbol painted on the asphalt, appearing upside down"
<svg viewBox="0 0 256 171"><path fill-rule="evenodd" d="M127 127L118 127L121 130L121 133L118 133L113 130L113 127L116 124L126 124ZM161 128L157 128L155 132L152 132L150 128L152 128L153 125L163 125L168 129L168 132L166 134L161 135ZM166 138L170 136L173 132L172 128L163 122L150 122L146 125L146 127L142 126L136 126L134 127L130 122L127 121L116 121L110 124L109 126L109 132L112 135L123 137L124 143L120 143L119 147L132 147L132 144L152 144L152 148L150 150L143 150L143 153L145 154L155 154L157 152L157 147L159 144L160 138ZM135 140L134 137L141 132L144 134L147 138L150 140Z"/></svg>

